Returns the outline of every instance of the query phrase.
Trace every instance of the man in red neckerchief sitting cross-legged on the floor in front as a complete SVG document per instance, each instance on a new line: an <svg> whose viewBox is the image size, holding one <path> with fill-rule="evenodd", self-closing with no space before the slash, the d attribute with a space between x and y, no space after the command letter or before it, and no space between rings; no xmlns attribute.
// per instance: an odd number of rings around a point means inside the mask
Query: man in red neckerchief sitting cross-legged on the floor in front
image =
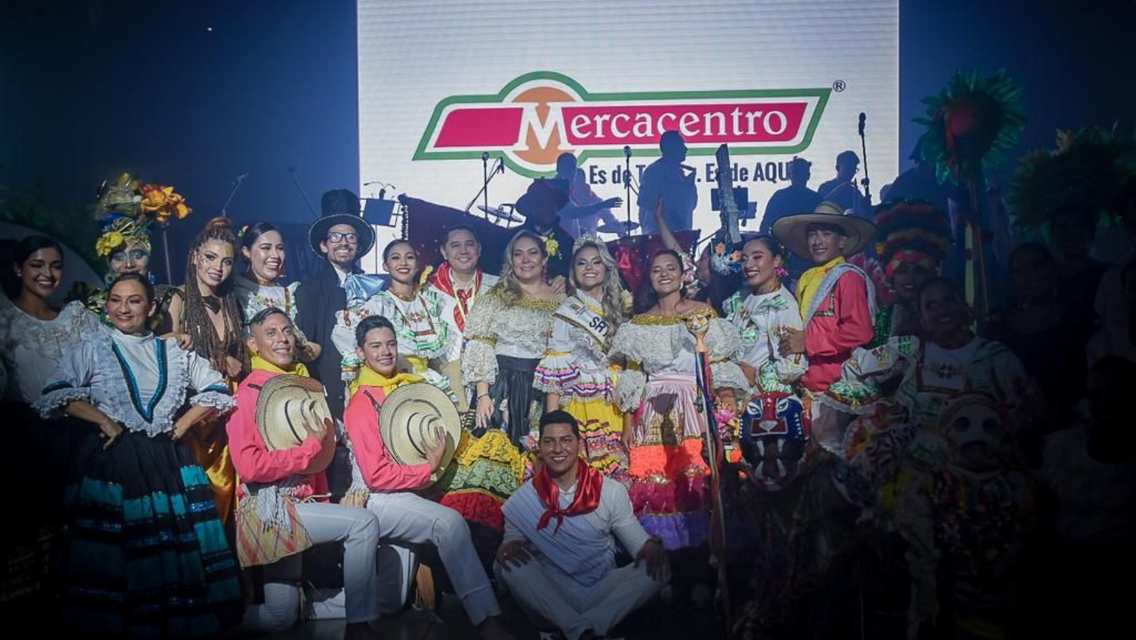
<svg viewBox="0 0 1136 640"><path fill-rule="evenodd" d="M569 640L605 635L650 600L670 568L623 484L579 457L576 418L541 418L541 469L501 508L496 573L534 624ZM635 558L616 567L616 540Z"/></svg>

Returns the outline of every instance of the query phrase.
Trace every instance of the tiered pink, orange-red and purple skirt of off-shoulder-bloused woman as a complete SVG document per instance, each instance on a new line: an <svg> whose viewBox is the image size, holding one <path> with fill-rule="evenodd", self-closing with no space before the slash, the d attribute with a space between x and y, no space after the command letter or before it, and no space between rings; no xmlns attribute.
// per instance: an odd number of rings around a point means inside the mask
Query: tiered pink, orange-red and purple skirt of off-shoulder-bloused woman
<svg viewBox="0 0 1136 640"><path fill-rule="evenodd" d="M657 374L646 384L630 455L630 498L640 523L667 549L698 547L710 529L702 458L705 414L693 374Z"/></svg>

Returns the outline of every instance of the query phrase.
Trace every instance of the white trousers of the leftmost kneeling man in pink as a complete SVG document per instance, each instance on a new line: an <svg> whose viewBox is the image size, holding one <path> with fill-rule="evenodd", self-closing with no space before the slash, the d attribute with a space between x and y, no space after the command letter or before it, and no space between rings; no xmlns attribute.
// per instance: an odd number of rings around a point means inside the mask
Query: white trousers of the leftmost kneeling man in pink
<svg viewBox="0 0 1136 640"><path fill-rule="evenodd" d="M328 502L301 502L295 510L314 545L343 542L343 599L348 623L377 618L375 551L379 535L375 515L367 509ZM300 555L265 567L265 604L245 609L247 629L277 633L295 624L300 616L302 568Z"/></svg>

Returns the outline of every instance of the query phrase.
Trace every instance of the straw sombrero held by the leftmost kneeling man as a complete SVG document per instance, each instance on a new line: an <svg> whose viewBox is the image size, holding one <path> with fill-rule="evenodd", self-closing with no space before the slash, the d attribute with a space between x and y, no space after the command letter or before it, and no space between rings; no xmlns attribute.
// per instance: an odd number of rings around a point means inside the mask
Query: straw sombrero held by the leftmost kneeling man
<svg viewBox="0 0 1136 640"><path fill-rule="evenodd" d="M324 433L325 419L332 418L324 385L302 375L281 374L268 379L257 396L257 431L270 451L299 447L308 438L304 423ZM304 469L319 473L335 456L335 447L324 447Z"/></svg>

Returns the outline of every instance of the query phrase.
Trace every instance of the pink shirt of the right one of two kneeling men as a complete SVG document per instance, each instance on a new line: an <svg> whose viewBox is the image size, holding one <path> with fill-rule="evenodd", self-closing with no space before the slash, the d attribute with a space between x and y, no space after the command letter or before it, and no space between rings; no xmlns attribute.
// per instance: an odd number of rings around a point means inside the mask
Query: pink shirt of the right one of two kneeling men
<svg viewBox="0 0 1136 640"><path fill-rule="evenodd" d="M419 382L415 384L428 384ZM400 465L391 459L378 433L378 408L386 400L382 387L359 387L343 412L343 424L351 438L356 462L364 482L371 491L402 491L417 489L429 480L429 463Z"/></svg>

